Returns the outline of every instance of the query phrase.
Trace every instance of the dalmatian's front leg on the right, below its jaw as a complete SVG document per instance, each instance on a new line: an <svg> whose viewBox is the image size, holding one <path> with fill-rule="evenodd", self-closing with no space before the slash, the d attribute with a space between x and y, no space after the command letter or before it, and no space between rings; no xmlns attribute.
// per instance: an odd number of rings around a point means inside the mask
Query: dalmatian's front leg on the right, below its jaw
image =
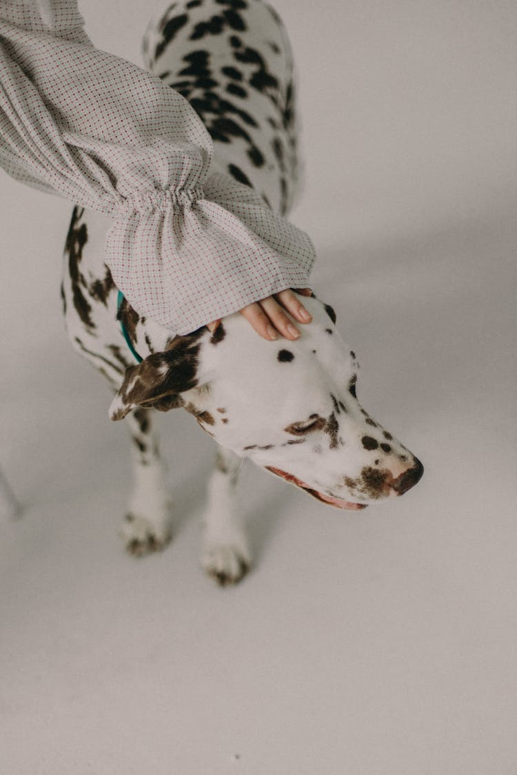
<svg viewBox="0 0 517 775"><path fill-rule="evenodd" d="M236 584L250 569L251 553L236 501L236 484L243 460L219 446L209 480L203 520L201 564L218 584Z"/></svg>

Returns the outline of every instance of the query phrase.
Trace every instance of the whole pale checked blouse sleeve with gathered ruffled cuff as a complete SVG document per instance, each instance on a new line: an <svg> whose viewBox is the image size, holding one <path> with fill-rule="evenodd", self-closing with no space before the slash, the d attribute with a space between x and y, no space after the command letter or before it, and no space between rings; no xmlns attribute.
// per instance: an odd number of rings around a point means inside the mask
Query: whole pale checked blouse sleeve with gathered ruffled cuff
<svg viewBox="0 0 517 775"><path fill-rule="evenodd" d="M105 261L141 315L187 333L308 285L307 235L249 187L209 175L188 102L96 49L75 0L0 0L0 164L112 217Z"/></svg>

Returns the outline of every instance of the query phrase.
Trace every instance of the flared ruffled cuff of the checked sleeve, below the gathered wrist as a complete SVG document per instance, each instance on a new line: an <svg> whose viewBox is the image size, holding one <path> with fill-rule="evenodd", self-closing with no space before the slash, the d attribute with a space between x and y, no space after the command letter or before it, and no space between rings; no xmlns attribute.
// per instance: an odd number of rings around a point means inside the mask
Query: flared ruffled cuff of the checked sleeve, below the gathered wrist
<svg viewBox="0 0 517 775"><path fill-rule="evenodd" d="M106 263L133 307L174 333L304 288L311 240L224 174L203 187L140 192L119 204Z"/></svg>

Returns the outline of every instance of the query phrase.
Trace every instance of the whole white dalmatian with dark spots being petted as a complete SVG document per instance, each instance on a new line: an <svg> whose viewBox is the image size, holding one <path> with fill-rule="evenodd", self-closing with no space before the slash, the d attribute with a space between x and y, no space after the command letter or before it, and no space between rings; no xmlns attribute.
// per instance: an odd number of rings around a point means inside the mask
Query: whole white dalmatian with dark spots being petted
<svg viewBox="0 0 517 775"><path fill-rule="evenodd" d="M277 13L260 0L178 0L151 23L143 50L150 71L205 122L215 171L287 213L297 188L293 64ZM201 553L219 584L240 580L252 560L236 498L244 459L353 511L419 480L422 463L360 406L357 357L329 305L304 297L312 322L295 341L261 339L239 313L214 332L172 337L119 303L103 262L110 225L74 208L62 297L71 343L109 380L110 417L124 418L133 438L134 491L122 527L129 552L152 552L171 537L152 409L184 408L219 445Z"/></svg>

